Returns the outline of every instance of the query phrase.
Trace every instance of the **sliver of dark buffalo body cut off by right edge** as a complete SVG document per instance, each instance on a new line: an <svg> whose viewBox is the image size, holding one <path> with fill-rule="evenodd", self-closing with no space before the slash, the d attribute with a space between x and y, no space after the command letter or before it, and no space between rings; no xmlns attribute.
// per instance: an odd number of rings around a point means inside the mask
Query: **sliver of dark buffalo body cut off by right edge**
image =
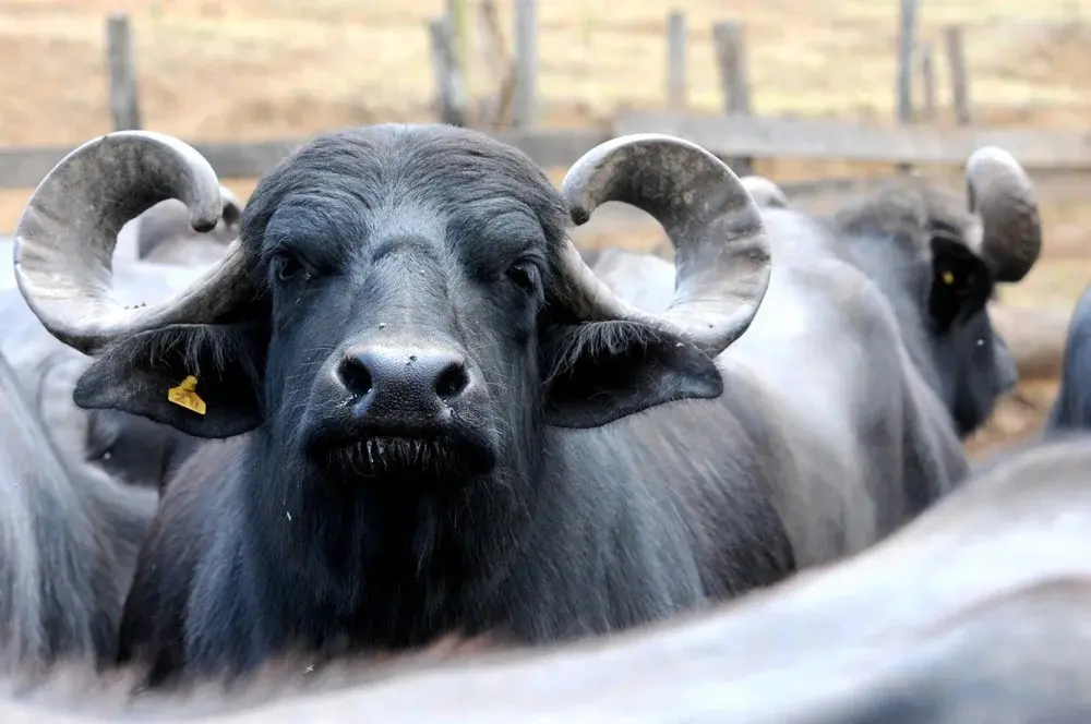
<svg viewBox="0 0 1091 724"><path fill-rule="evenodd" d="M1068 322L1060 385L1045 433L1091 430L1091 287L1083 290Z"/></svg>

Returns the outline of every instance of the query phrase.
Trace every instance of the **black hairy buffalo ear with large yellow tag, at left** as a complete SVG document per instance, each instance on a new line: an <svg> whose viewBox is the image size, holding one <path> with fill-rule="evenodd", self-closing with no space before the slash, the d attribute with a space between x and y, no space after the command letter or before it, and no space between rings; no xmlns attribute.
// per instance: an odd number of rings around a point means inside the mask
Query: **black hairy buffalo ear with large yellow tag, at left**
<svg viewBox="0 0 1091 724"><path fill-rule="evenodd" d="M267 347L264 321L145 331L100 352L72 398L84 409L121 410L194 437L231 437L262 423Z"/></svg>

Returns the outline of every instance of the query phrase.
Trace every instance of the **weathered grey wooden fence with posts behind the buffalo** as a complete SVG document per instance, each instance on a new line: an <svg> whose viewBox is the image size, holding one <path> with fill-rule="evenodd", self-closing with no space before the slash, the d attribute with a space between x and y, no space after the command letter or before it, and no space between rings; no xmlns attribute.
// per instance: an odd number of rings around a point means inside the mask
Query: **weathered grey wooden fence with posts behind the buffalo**
<svg viewBox="0 0 1091 724"><path fill-rule="evenodd" d="M751 113L752 93L746 75L745 34L738 23L717 23L712 31L716 61L723 89L723 114L687 116L686 20L681 11L664 19L668 72L664 112L630 112L607 130L559 131L535 128L537 0L515 0L514 50L497 40L492 0L480 0L484 52L499 69L495 92L472 108L461 75L463 50L456 28L465 25L466 0L448 0L443 17L429 23L440 118L475 125L521 148L542 167L566 167L612 135L660 132L690 138L746 172L753 159L794 157L873 161L908 167L914 164L960 166L974 148L997 145L1012 153L1028 169L1083 171L1091 169L1091 135L1071 131L1024 131L972 124L968 73L962 57L962 33L949 27L944 35L951 76L951 109L956 129L926 123L938 116L933 48L914 38L916 0L902 2L902 41L896 80L898 121L895 125L851 121L758 118ZM458 19L463 20L459 21ZM489 32L492 28L492 32ZM139 129L142 118L129 20L111 15L106 23L110 71L110 114L115 130ZM923 104L914 107L913 79L921 79ZM305 138L261 143L194 143L225 179L264 174ZM36 185L69 150L64 147L0 148L0 189ZM820 185L807 182L808 186Z"/></svg>

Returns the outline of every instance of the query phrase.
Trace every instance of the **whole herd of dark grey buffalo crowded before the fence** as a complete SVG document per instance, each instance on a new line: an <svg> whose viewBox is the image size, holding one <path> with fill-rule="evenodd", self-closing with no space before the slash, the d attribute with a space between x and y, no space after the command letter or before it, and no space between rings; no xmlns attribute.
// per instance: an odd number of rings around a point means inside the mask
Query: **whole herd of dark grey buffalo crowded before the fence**
<svg viewBox="0 0 1091 724"><path fill-rule="evenodd" d="M0 275L0 717L1091 721L1091 291L971 464L1042 229L964 172L819 216L672 136L559 191L380 124L243 206L88 141ZM673 261L578 251L607 202Z"/></svg>

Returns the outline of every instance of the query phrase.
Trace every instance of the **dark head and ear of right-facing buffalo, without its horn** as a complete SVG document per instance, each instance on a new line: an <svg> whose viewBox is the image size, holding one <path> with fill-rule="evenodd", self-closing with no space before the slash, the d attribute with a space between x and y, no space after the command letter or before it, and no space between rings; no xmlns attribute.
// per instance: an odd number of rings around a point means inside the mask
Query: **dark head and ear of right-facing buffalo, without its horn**
<svg viewBox="0 0 1091 724"><path fill-rule="evenodd" d="M993 273L966 244L964 203L907 180L829 220L848 261L894 305L910 354L951 413L960 437L980 429L1019 381L986 303Z"/></svg>

